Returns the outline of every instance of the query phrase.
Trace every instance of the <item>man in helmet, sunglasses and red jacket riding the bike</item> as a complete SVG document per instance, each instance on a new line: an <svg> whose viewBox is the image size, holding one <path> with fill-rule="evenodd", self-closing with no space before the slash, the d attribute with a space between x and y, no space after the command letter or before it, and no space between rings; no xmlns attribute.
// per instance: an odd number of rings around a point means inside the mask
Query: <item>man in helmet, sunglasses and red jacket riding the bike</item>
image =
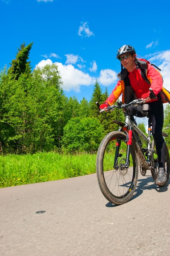
<svg viewBox="0 0 170 256"><path fill-rule="evenodd" d="M166 144L162 136L163 128L163 103L161 93L163 79L158 70L144 59L137 58L136 51L131 45L123 45L117 51L116 58L121 62L121 72L118 74L119 81L106 101L100 105L100 109L113 105L122 94L123 103L129 103L133 99L143 99L149 104L152 135L155 139L155 146L159 159L157 184L166 183ZM145 75L144 75L145 72ZM157 96L151 99L149 88ZM130 106L130 118L136 124L136 117L143 117L142 106Z"/></svg>

